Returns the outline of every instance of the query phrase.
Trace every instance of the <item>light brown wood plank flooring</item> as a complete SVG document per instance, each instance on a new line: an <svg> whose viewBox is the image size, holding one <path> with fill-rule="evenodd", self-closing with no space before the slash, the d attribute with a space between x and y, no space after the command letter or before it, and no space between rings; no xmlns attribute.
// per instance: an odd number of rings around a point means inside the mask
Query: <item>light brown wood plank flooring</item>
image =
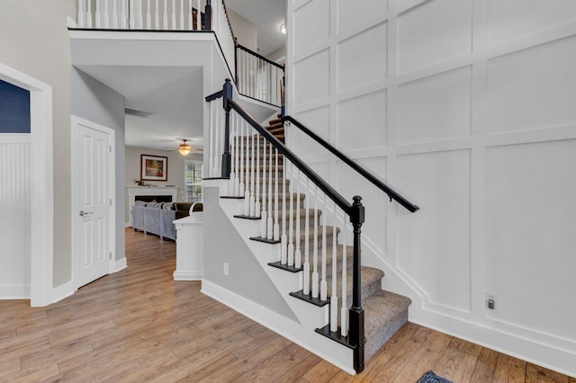
<svg viewBox="0 0 576 383"><path fill-rule="evenodd" d="M126 230L128 269L49 307L0 300L0 382L458 382L576 379L408 323L350 376L173 281L175 243Z"/></svg>

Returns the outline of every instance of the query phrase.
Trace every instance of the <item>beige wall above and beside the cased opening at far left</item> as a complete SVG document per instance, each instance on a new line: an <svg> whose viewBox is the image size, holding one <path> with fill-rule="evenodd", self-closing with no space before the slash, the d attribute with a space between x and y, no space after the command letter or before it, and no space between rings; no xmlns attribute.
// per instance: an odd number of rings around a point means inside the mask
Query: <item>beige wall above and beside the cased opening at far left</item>
<svg viewBox="0 0 576 383"><path fill-rule="evenodd" d="M54 147L54 286L70 270L70 46L63 2L4 1L2 63L52 86ZM64 171L59 171L64 169Z"/></svg>

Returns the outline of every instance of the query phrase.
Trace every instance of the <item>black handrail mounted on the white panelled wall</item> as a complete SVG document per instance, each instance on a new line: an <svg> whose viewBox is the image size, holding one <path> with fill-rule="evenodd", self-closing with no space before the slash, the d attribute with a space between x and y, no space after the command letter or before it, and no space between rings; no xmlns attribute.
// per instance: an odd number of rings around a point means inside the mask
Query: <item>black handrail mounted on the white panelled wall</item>
<svg viewBox="0 0 576 383"><path fill-rule="evenodd" d="M301 129L302 132L304 132L306 135L310 136L312 139L314 139L316 142L318 142L322 147L326 147L330 151L330 153L332 153L334 156L337 156L338 159L342 160L344 163L346 163L352 169L356 170L356 172L358 174L362 175L366 180L370 181L371 183L374 183L374 185L378 189L380 189L381 191L388 194L388 197L390 197L391 201L396 200L398 203L401 204L401 206L408 209L412 213L417 211L418 209L420 209L418 205L415 205L412 202L410 202L410 200L407 200L404 197L402 197L398 191L393 190L390 186L388 186L382 180L380 180L376 176L374 176L374 174L372 174L368 170L366 170L365 167L358 165L358 163L356 161L354 161L352 158L348 157L347 155L345 155L344 153L339 151L336 147L333 147L327 140L325 140L324 138L321 138L319 135L317 135L316 133L311 131L311 129L306 128L302 124L302 122L294 119L292 116L284 116L282 118L282 120L292 122L298 129Z"/></svg>

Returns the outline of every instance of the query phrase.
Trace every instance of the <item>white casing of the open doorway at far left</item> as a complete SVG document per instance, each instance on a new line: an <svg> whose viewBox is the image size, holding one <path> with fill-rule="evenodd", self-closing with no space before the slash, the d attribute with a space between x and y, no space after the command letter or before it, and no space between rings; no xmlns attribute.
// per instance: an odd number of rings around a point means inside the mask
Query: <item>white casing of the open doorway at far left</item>
<svg viewBox="0 0 576 383"><path fill-rule="evenodd" d="M30 92L31 122L31 284L32 307L51 303L54 258L54 171L52 87L0 64L0 80Z"/></svg>

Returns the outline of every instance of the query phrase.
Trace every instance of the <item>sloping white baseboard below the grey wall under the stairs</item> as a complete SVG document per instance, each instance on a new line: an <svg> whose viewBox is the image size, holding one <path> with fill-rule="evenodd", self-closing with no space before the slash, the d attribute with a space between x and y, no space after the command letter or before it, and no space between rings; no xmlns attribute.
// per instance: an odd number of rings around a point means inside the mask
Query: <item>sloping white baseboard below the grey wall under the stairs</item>
<svg viewBox="0 0 576 383"><path fill-rule="evenodd" d="M355 375L352 366L352 350L334 343L321 335L315 334L310 329L303 329L302 325L291 319L281 316L267 307L260 306L247 298L241 297L229 289L224 289L211 281L202 280L201 292L210 298L232 308L238 313L249 317L260 325L264 325L276 334L284 336L306 350L315 353L320 358L329 361L338 369L345 370L348 374ZM306 337L313 337L307 339ZM336 357L335 357L336 355Z"/></svg>

